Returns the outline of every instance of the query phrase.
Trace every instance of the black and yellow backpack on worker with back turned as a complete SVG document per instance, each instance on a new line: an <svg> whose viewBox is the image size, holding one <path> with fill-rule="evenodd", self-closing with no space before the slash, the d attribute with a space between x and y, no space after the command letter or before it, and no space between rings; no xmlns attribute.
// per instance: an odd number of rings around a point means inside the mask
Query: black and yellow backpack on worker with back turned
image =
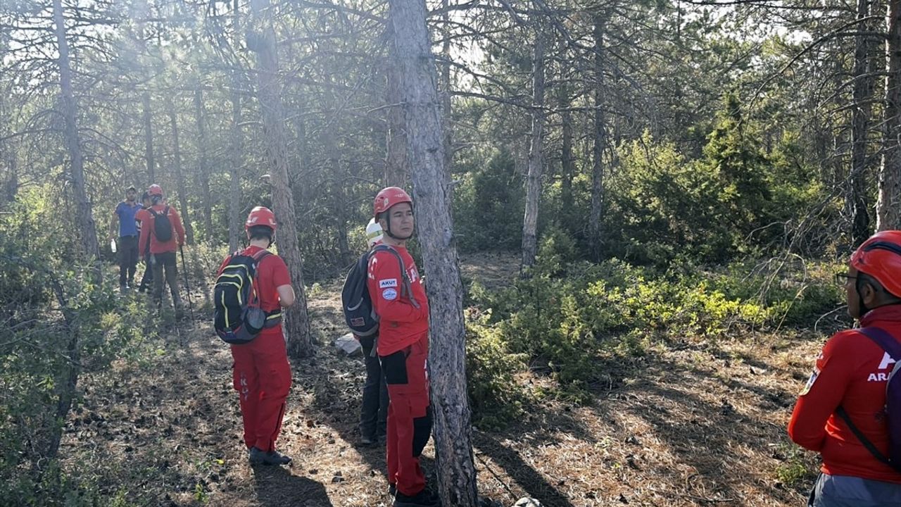
<svg viewBox="0 0 901 507"><path fill-rule="evenodd" d="M213 327L223 342L246 344L266 327L281 324L281 310L271 313L259 308L257 281L259 262L269 254L262 250L253 255L232 253L213 289Z"/></svg>

